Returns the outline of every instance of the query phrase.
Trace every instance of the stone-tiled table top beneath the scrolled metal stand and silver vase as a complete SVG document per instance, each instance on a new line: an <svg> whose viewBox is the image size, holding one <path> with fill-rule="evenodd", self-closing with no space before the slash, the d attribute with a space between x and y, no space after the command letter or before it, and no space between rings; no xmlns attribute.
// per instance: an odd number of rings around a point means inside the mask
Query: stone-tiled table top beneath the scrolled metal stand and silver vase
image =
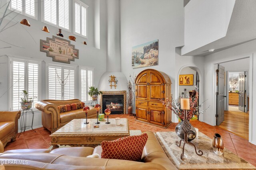
<svg viewBox="0 0 256 170"><path fill-rule="evenodd" d="M155 135L167 156L178 169L255 168L255 166L246 162L226 148L222 156L216 155L212 149L212 139L201 132L199 132L199 138L194 139L192 143L196 145L197 150L202 150L204 154L202 156L198 156L195 153L194 147L192 145L186 144L183 160L180 159L183 142L180 147L176 146L175 141L180 141L180 138L176 135L175 132L156 132Z"/></svg>

